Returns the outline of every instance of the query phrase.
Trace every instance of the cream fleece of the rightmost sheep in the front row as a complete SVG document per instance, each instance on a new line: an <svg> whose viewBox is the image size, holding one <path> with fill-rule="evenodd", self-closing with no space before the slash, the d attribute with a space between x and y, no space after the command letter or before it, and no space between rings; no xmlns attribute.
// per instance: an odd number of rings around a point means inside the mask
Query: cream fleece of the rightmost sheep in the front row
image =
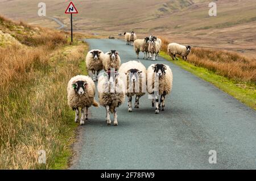
<svg viewBox="0 0 256 181"><path fill-rule="evenodd" d="M148 94L154 92L155 84L155 73L154 66L156 64L151 64L147 69L147 91ZM166 95L171 93L172 90L172 70L168 65L166 66L166 74L159 78L159 95L162 95L166 91Z"/></svg>

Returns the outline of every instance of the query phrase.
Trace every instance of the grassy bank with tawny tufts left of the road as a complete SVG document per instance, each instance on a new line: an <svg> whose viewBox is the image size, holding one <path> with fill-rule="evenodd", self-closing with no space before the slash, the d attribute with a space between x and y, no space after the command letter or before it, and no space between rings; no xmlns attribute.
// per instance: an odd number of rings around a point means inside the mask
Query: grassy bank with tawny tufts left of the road
<svg viewBox="0 0 256 181"><path fill-rule="evenodd" d="M77 124L67 106L86 45L0 17L0 169L64 169ZM85 73L85 71L83 71ZM38 151L46 151L46 164Z"/></svg>

